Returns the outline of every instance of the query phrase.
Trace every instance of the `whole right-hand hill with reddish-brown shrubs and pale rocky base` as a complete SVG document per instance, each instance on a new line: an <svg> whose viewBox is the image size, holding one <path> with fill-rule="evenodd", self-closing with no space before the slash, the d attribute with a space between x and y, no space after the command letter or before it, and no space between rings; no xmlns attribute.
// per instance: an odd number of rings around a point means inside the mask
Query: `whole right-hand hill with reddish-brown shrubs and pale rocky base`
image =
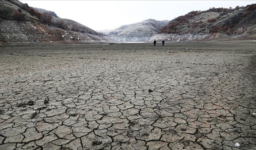
<svg viewBox="0 0 256 150"><path fill-rule="evenodd" d="M256 4L192 11L164 26L150 41L256 39Z"/></svg>

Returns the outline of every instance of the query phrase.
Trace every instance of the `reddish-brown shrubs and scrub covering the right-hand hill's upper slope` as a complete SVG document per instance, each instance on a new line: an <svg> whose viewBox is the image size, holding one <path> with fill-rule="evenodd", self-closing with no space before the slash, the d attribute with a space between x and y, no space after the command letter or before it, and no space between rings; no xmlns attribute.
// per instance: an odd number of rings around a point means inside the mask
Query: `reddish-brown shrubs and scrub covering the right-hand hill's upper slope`
<svg viewBox="0 0 256 150"><path fill-rule="evenodd" d="M193 12L189 12L184 16L177 17L176 19L171 21L167 26L164 26L158 33L175 33L176 30L179 30L179 33L220 32L220 33L226 33L226 34L232 34L232 33L241 34L246 30L245 29L238 30L238 28L241 27L241 24L243 24L243 22L254 17L255 10L256 10L256 4L247 5L246 7L244 6L242 7L236 6L235 8L232 8L232 7L214 8L213 7L205 11L193 11ZM235 11L240 11L240 12L237 13ZM213 13L208 13L205 16L201 16L201 18L195 17L196 15L207 13L207 12L218 12L219 16L215 16L213 18L211 17L213 16ZM227 18L226 15L229 13L233 13L234 15L232 17L229 16ZM200 19L200 20L197 21L197 19ZM205 19L205 21L201 19ZM219 20L218 22L217 22L217 19ZM193 20L196 20L196 21L193 21ZM207 24L206 21L211 24Z"/></svg>

